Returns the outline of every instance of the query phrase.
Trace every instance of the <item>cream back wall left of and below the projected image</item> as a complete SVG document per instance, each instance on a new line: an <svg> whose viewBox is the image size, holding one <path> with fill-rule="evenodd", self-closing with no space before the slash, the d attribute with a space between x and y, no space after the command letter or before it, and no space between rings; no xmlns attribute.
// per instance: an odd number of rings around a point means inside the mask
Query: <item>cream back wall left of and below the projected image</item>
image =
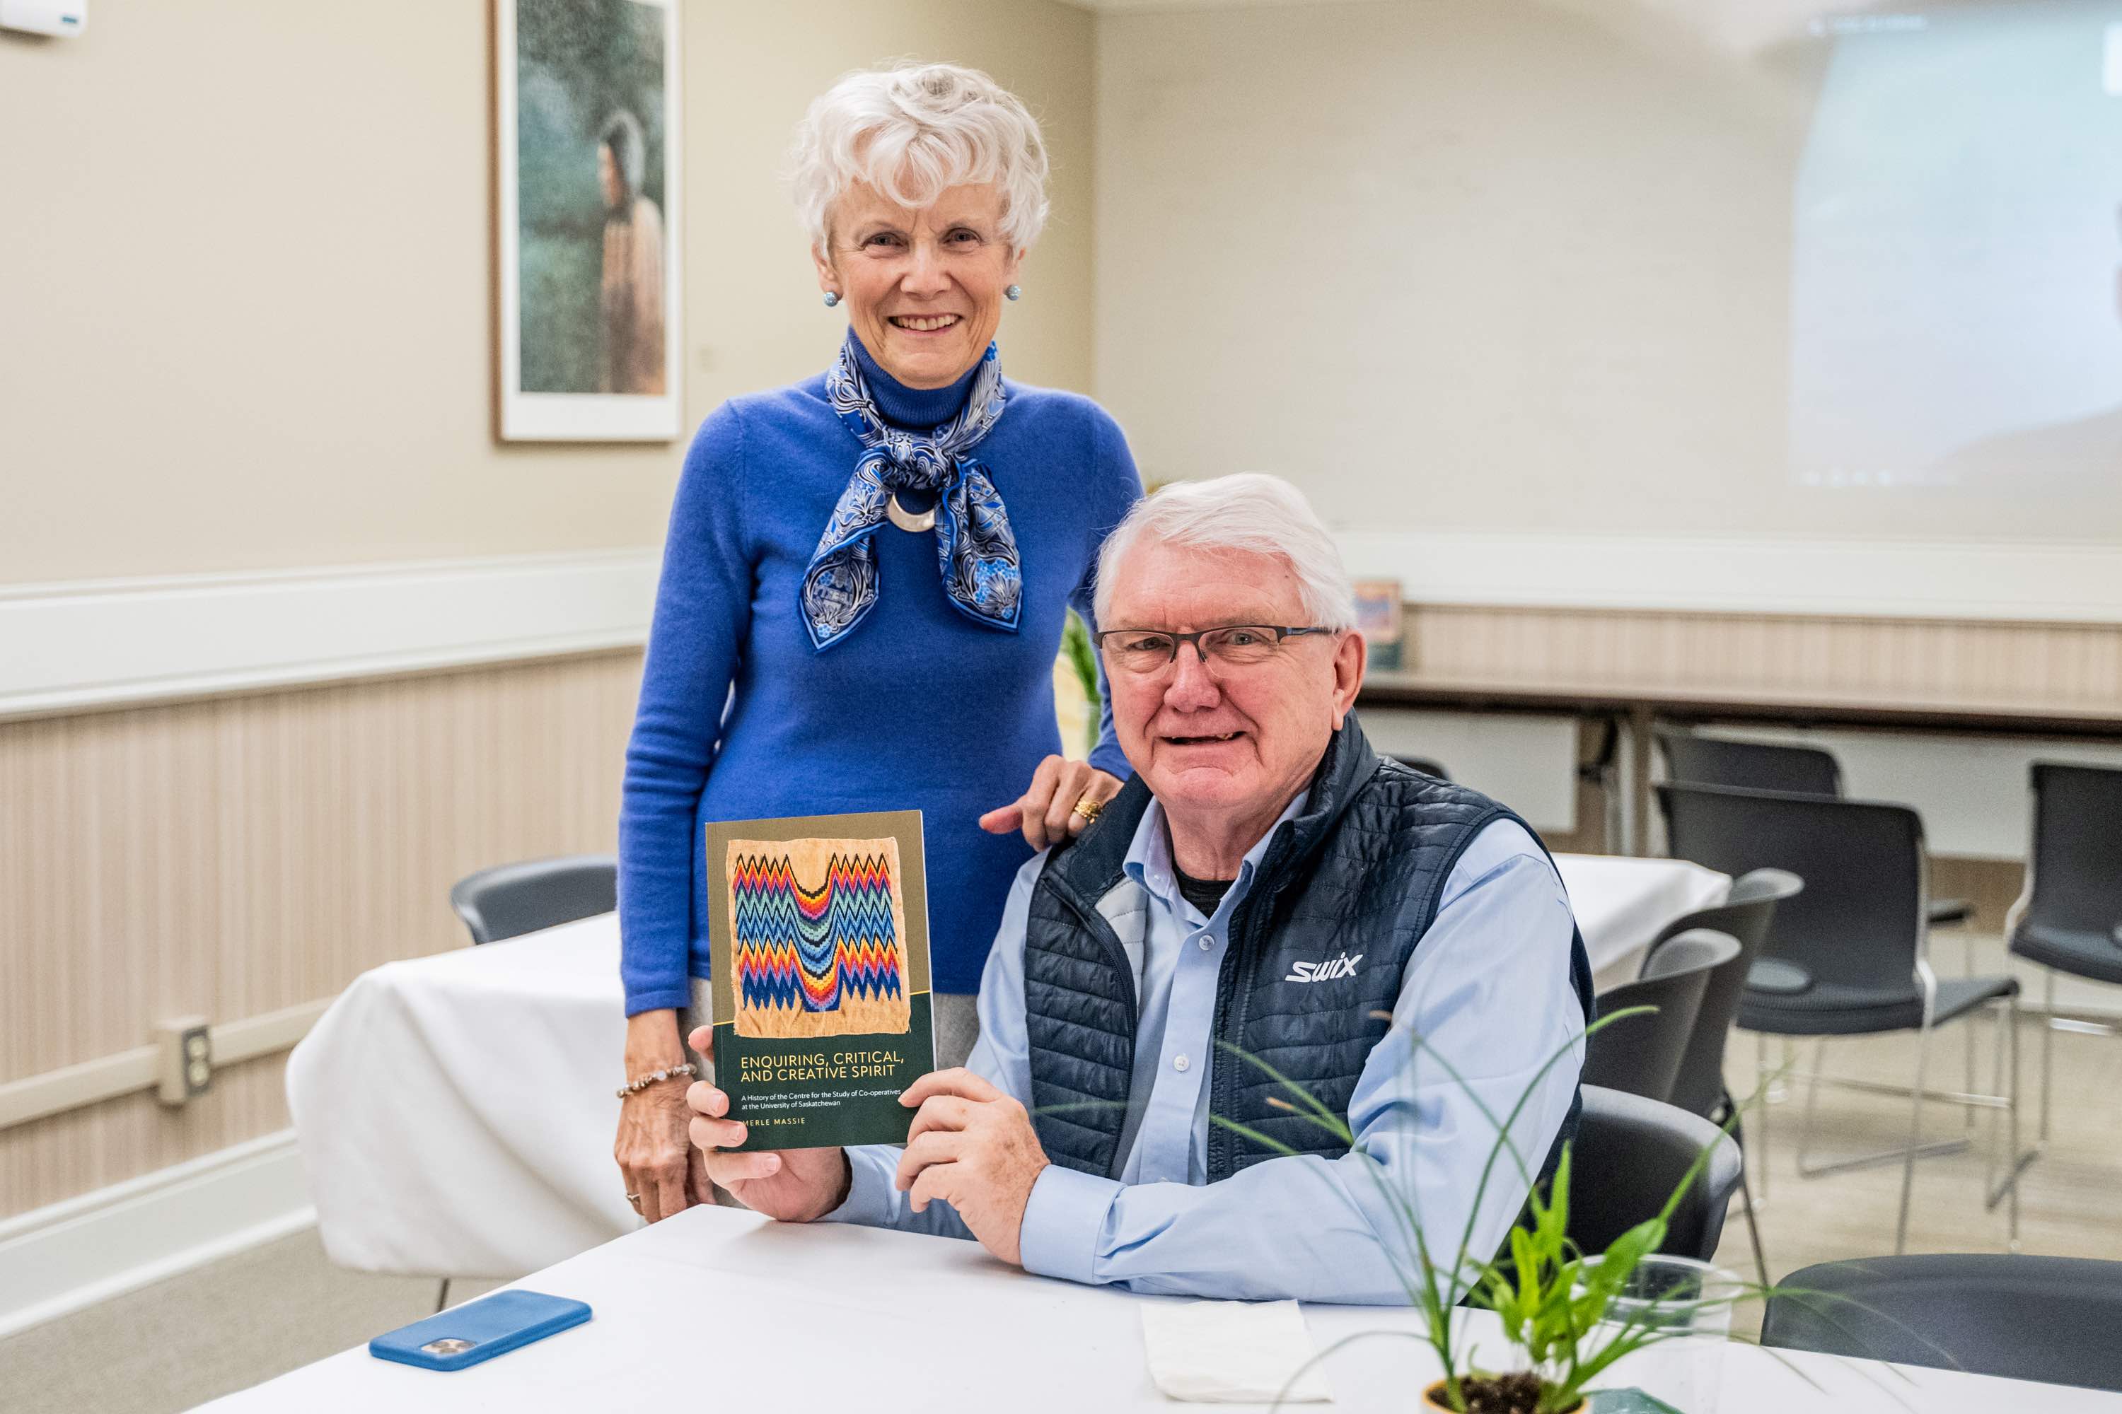
<svg viewBox="0 0 2122 1414"><path fill-rule="evenodd" d="M2122 502L1791 483L1816 78L1710 8L1101 19L1095 390L1144 473L1280 471L1364 532L2122 541Z"/></svg>

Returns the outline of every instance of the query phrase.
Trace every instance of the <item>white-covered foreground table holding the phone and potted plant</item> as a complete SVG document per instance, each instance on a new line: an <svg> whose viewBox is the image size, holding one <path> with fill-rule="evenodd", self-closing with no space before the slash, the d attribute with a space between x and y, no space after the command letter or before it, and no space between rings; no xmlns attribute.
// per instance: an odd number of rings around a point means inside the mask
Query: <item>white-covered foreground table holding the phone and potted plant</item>
<svg viewBox="0 0 2122 1414"><path fill-rule="evenodd" d="M1144 1410L1142 1306L1159 1297L1027 1276L974 1242L838 1225L779 1225L734 1208L688 1208L520 1283L588 1302L573 1331L458 1374L344 1350L214 1414L422 1414L427 1410ZM1466 1312L1485 1350L1494 1316ZM1314 1346L1358 1331L1420 1329L1411 1310L1307 1306ZM1657 1359L1649 1357L1632 1359ZM1725 1346L1719 1414L2122 1414L2122 1397L1944 1369ZM1407 1414L1437 1378L1426 1346L1364 1340L1326 1357L1339 1412ZM1625 1374L1625 1365L1615 1367ZM1810 1380L1810 1382L1808 1382ZM1224 1406L1265 1408L1265 1406Z"/></svg>

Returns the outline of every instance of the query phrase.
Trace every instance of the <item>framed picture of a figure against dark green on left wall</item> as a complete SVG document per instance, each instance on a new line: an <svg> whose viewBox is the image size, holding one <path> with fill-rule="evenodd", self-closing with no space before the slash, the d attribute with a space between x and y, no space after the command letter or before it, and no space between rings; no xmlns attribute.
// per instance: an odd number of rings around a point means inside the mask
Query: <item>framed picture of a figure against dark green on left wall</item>
<svg viewBox="0 0 2122 1414"><path fill-rule="evenodd" d="M679 435L675 0L494 0L503 441Z"/></svg>

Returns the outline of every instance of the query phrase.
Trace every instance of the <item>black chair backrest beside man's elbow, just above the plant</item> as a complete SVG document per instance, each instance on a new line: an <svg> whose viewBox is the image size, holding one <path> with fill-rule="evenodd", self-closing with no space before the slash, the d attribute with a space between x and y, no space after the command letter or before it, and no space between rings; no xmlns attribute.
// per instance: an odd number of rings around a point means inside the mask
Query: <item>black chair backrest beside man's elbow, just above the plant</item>
<svg viewBox="0 0 2122 1414"><path fill-rule="evenodd" d="M1708 1162L1681 1198L1657 1251L1710 1261L1723 1236L1725 1206L1738 1187L1738 1145L1715 1124L1674 1104L1583 1088L1585 1104L1570 1145L1570 1240L1602 1253L1636 1223L1657 1217L1704 1149Z"/></svg>

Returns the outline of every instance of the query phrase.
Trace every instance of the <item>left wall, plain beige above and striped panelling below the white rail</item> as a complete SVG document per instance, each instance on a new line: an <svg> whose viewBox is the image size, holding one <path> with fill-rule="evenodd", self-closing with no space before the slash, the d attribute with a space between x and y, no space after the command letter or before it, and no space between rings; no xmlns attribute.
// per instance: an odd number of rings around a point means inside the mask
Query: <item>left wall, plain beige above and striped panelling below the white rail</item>
<svg viewBox="0 0 2122 1414"><path fill-rule="evenodd" d="M1046 0L685 4L690 420L832 356L783 151L900 55L1042 114L1008 369L1089 388L1091 38ZM477 0L102 0L81 40L0 38L0 583L662 541L681 443L492 441L488 72ZM613 846L639 672L0 723L0 1081L460 945L458 876ZM280 1068L0 1132L0 1217L282 1128Z"/></svg>

